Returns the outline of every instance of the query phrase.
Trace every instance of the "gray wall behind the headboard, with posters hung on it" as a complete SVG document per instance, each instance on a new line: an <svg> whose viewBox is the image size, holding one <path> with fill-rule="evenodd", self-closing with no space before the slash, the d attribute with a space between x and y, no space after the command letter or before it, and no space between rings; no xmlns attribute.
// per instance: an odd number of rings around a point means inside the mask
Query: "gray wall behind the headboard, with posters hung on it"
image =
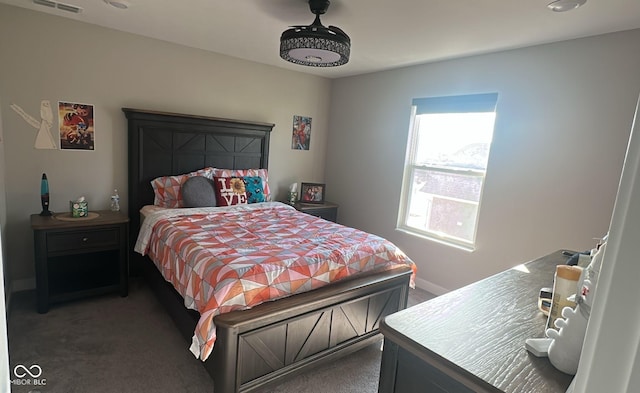
<svg viewBox="0 0 640 393"><path fill-rule="evenodd" d="M330 81L84 23L0 5L0 103L7 167L7 263L14 289L33 285L29 215L49 178L51 210L86 196L108 208L117 188L127 208L122 107L275 123L269 184L284 198L293 182L324 179ZM96 149L36 150L36 130L9 108L39 119L41 100L95 105ZM309 151L291 149L294 115L313 119ZM57 125L57 121L55 122ZM3 214L4 217L4 214ZM26 281L25 281L26 280Z"/></svg>

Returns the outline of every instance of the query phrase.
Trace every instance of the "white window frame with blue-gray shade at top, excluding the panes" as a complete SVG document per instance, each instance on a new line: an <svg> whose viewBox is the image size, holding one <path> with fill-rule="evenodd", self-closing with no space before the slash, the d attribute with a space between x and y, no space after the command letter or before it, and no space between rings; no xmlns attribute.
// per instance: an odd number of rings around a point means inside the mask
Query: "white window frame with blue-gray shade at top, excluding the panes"
<svg viewBox="0 0 640 393"><path fill-rule="evenodd" d="M418 236L427 240L435 241L447 246L455 247L465 251L472 252L476 249L476 239L478 234L478 226L480 221L480 209L482 206L482 198L484 194L484 186L487 176L487 168L455 168L438 165L425 165L415 162L417 157L419 138L419 115L436 114L436 113L481 113L492 112L497 118L497 93L487 94L471 94L459 96L429 97L418 98L412 101L411 117L409 122L409 138L407 139L407 150L403 169L402 188L400 192L400 206L398 209L398 219L396 229L410 235ZM493 122L492 135L495 133L496 120ZM492 136L493 138L493 136ZM490 148L489 153L490 154ZM477 201L477 208L474 219L473 239L468 241L449 234L437 233L409 226L409 207L411 206L411 195L413 191L413 179L416 170L425 170L436 173L450 173L463 176L474 176L481 178L480 193ZM453 200L454 198L447 199ZM469 203L470 201L465 201ZM472 203L476 203L473 201Z"/></svg>

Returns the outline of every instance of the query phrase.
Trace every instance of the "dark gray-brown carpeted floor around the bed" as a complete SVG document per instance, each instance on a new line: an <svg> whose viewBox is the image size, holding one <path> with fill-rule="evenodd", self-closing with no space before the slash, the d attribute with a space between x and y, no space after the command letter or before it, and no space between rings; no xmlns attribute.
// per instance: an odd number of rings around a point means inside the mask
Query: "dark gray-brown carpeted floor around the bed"
<svg viewBox="0 0 640 393"><path fill-rule="evenodd" d="M432 297L411 290L409 305ZM34 291L14 294L8 325L11 376L25 375L29 383L14 383L13 393L213 391L211 377L142 280L131 282L126 298L93 297L54 305L47 314L36 312ZM375 344L272 391L375 393L380 357ZM37 375L38 367L39 376L26 373Z"/></svg>

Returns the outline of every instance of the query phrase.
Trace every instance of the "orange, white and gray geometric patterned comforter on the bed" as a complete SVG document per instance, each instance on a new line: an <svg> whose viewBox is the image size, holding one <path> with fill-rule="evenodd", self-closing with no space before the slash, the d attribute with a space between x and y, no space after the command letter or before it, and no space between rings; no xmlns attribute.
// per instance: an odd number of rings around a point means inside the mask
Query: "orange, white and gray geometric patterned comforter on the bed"
<svg viewBox="0 0 640 393"><path fill-rule="evenodd" d="M200 320L191 352L206 360L213 318L320 288L353 274L415 265L394 244L280 202L168 209L145 217L135 250L148 254Z"/></svg>

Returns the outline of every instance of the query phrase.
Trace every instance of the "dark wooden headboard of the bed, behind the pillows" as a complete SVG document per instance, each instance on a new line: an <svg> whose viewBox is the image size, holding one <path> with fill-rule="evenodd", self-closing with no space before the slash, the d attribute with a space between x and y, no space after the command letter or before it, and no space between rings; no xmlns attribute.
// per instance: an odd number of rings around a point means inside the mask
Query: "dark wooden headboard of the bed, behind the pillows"
<svg viewBox="0 0 640 393"><path fill-rule="evenodd" d="M122 108L129 128L131 248L140 209L152 205L150 181L205 167L267 168L274 124Z"/></svg>

